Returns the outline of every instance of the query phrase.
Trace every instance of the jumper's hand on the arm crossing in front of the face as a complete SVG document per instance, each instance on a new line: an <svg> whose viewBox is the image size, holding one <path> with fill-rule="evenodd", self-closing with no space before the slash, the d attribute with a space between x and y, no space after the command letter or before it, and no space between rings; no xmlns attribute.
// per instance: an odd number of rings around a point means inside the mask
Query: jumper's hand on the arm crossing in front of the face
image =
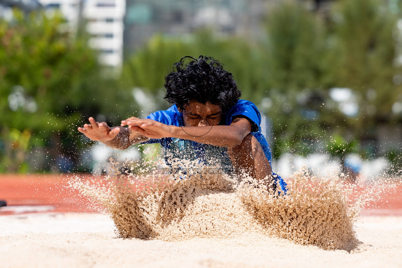
<svg viewBox="0 0 402 268"><path fill-rule="evenodd" d="M136 117L130 117L129 119L121 121L121 126L125 125L128 125L132 131L141 133L145 137L151 139L172 137L173 126L162 124L152 119L138 119Z"/></svg>

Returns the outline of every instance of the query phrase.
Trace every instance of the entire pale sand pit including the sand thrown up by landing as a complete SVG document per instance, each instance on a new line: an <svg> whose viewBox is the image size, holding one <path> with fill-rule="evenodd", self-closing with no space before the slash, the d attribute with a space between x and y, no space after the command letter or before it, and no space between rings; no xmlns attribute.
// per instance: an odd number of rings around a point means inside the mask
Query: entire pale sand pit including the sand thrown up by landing
<svg viewBox="0 0 402 268"><path fill-rule="evenodd" d="M72 188L107 215L0 216L0 268L402 263L402 217L358 217L386 195L386 181L345 184L300 170L283 195L249 178L183 175L74 176Z"/></svg>

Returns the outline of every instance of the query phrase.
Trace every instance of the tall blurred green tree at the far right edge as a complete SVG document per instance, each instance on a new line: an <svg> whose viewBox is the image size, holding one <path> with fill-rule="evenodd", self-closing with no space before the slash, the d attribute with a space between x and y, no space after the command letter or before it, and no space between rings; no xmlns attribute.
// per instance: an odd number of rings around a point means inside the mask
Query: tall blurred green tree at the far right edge
<svg viewBox="0 0 402 268"><path fill-rule="evenodd" d="M359 112L344 125L364 137L379 121L394 121L392 105L402 98L397 17L384 1L341 0L332 19L332 86L353 90Z"/></svg>

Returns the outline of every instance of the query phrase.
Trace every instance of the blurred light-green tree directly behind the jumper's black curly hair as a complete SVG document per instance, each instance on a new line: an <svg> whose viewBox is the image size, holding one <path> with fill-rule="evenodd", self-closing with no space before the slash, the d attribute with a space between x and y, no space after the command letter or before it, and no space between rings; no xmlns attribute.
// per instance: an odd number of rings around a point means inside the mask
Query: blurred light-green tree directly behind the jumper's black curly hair
<svg viewBox="0 0 402 268"><path fill-rule="evenodd" d="M163 97L164 77L172 65L184 56L207 55L218 59L232 72L242 98L258 100L258 88L262 88L260 77L262 65L260 50L237 38L217 39L208 30L195 33L191 39L166 38L155 35L149 43L136 51L125 62L122 72L124 88L143 88L157 96L159 104L167 106Z"/></svg>

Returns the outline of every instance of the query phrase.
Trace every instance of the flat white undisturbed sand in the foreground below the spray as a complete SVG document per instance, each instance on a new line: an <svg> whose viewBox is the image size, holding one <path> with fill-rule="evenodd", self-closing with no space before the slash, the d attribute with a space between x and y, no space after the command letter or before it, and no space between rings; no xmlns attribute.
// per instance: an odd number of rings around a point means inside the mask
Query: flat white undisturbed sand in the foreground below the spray
<svg viewBox="0 0 402 268"><path fill-rule="evenodd" d="M182 242L116 238L98 213L0 217L0 267L402 267L402 217L364 216L350 254L249 233Z"/></svg>

